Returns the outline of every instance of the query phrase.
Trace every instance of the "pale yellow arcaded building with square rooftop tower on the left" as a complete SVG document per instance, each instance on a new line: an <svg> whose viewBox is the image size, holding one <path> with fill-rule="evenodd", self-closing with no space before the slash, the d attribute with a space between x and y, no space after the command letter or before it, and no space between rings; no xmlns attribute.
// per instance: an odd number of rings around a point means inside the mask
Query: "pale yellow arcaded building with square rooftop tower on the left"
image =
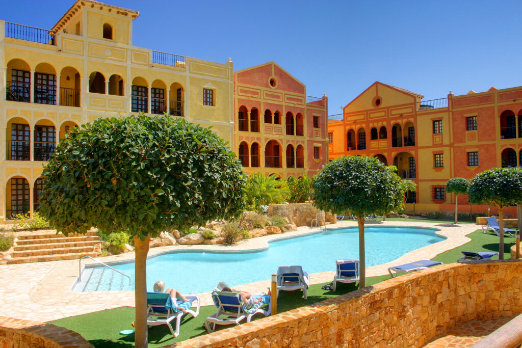
<svg viewBox="0 0 522 348"><path fill-rule="evenodd" d="M0 21L0 220L38 206L42 166L57 143L98 117L166 112L234 142L230 59L133 46L138 16L79 0L50 30Z"/></svg>

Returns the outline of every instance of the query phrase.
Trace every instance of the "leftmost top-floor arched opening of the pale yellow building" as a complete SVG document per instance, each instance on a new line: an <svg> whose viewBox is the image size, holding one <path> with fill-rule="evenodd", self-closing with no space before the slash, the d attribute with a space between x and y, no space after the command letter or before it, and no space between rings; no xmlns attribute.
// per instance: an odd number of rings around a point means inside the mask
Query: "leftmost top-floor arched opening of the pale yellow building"
<svg viewBox="0 0 522 348"><path fill-rule="evenodd" d="M21 59L7 63L6 100L29 103L31 101L31 68Z"/></svg>

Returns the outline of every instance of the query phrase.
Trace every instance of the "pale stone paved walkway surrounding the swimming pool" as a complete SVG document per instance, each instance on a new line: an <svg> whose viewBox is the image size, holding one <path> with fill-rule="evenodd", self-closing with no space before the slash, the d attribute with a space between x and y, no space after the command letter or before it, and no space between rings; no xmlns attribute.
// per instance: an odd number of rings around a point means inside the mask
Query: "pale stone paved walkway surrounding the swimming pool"
<svg viewBox="0 0 522 348"><path fill-rule="evenodd" d="M356 221L342 221L329 228L356 226ZM368 226L423 226L440 229L438 234L446 236L442 242L413 250L410 253L385 263L384 265L369 267L366 276L388 274L388 267L402 263L413 262L421 259L431 259L443 251L453 249L470 241L466 235L478 229L477 225L452 225L441 223L424 223L420 220L407 222L369 222ZM268 247L268 241L278 238L286 238L294 235L303 235L317 232L318 229L299 227L298 231L287 232L278 235L267 235L258 238L246 239L234 247L222 245L196 245L196 246L168 246L152 248L149 255L157 255L171 250L251 250L264 249ZM134 258L134 253L121 254L108 257L100 257L103 262L123 261ZM93 263L91 260L82 261ZM331 281L334 271L314 273L310 276L312 284ZM34 321L51 321L64 317L91 313L104 309L121 306L134 306L133 291L101 291L77 293L73 292L73 284L78 276L78 260L64 260L38 263L23 263L19 265L0 266L0 316L27 319ZM266 291L270 281L260 281L245 284L239 289L258 293ZM195 294L201 298L201 305L211 304L210 293Z"/></svg>

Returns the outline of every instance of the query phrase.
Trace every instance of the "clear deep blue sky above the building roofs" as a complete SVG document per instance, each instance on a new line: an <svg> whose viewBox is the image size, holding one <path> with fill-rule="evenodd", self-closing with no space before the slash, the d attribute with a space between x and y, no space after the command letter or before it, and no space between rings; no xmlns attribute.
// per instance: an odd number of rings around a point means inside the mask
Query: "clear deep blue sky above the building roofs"
<svg viewBox="0 0 522 348"><path fill-rule="evenodd" d="M375 81L445 98L522 85L521 1L104 0L138 10L133 44L227 62L274 61L341 113ZM0 1L0 19L50 29L73 0Z"/></svg>

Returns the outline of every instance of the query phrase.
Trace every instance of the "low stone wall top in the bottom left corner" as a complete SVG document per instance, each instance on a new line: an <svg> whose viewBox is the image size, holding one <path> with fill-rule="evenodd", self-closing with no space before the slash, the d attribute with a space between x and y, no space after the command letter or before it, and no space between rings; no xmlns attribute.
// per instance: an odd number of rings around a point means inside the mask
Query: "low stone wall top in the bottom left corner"
<svg viewBox="0 0 522 348"><path fill-rule="evenodd" d="M93 345L79 333L59 326L0 317L0 347L92 348Z"/></svg>

